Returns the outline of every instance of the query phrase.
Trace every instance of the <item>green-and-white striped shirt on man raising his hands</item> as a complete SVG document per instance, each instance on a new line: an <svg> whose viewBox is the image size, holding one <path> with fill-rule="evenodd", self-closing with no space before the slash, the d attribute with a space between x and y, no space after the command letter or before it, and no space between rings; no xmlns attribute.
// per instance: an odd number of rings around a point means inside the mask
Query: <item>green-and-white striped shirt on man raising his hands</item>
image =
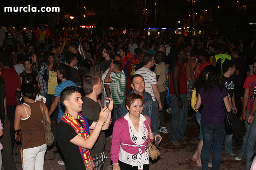
<svg viewBox="0 0 256 170"><path fill-rule="evenodd" d="M114 104L122 104L124 100L124 91L126 88L126 76L121 71L110 77L113 81L110 98Z"/></svg>

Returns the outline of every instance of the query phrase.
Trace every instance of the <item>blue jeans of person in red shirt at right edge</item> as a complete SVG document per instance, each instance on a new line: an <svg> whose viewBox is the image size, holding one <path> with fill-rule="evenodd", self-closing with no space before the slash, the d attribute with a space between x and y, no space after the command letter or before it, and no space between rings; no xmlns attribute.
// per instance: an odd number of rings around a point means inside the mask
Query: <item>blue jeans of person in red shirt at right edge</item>
<svg viewBox="0 0 256 170"><path fill-rule="evenodd" d="M248 122L245 122L248 124ZM246 132L247 133L247 132ZM252 155L254 154L254 145L256 143L256 122L253 121L252 124L250 124L250 129L248 131L248 136L246 139L246 154L245 154L245 163L246 163L246 170L250 170L250 167L252 165Z"/></svg>

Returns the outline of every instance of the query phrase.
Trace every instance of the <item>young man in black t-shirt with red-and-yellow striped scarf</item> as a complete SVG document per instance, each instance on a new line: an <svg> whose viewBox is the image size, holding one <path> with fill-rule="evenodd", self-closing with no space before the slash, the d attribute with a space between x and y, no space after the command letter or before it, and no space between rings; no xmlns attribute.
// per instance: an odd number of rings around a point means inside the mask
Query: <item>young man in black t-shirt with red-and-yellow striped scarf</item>
<svg viewBox="0 0 256 170"><path fill-rule="evenodd" d="M100 132L108 129L113 102L111 100L109 107L100 111L98 121L91 121L80 113L83 101L77 87L70 86L62 90L60 101L66 111L57 126L56 140L66 159L66 170L92 170L95 165L89 149ZM91 134L89 129L93 129Z"/></svg>

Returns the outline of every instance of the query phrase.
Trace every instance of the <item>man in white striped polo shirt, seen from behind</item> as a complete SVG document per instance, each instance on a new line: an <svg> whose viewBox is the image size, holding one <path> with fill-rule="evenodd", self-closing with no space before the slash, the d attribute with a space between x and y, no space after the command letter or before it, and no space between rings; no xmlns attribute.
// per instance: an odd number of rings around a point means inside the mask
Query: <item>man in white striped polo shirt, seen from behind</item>
<svg viewBox="0 0 256 170"><path fill-rule="evenodd" d="M155 60L152 54L145 54L142 59L142 63L143 67L136 70L134 74L140 74L143 76L145 81L145 91L151 94L152 96L154 107L156 110L156 127L158 129L160 127L158 111L161 111L163 109L163 106L161 104L160 92L157 87L156 73L150 70L150 68L152 68L155 64Z"/></svg>

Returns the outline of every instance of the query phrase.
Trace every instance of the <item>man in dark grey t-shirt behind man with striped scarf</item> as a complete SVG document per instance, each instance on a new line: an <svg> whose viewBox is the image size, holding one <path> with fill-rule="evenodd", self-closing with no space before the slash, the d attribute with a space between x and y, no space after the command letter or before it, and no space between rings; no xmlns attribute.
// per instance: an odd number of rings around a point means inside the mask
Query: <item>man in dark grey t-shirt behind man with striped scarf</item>
<svg viewBox="0 0 256 170"><path fill-rule="evenodd" d="M84 105L82 114L87 119L97 121L99 119L99 113L101 110L100 104L98 103L98 95L102 93L102 81L100 79L100 72L96 70L88 72L84 76L82 89L84 90L85 94L83 98ZM111 111L113 109L113 105L108 106L108 108ZM109 113L108 117L111 117L111 113ZM109 125L110 122L108 121L106 123ZM91 150L95 163L95 170L102 170L103 168L105 138L105 131L101 131L98 140Z"/></svg>

